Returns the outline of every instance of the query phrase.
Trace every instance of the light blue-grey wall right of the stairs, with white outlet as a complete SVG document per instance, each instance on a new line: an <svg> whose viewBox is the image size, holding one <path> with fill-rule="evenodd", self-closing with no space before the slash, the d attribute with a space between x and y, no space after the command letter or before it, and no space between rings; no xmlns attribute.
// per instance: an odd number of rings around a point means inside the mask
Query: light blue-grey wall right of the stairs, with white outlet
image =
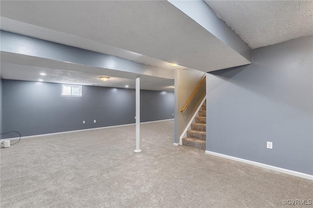
<svg viewBox="0 0 313 208"><path fill-rule="evenodd" d="M207 74L206 150L313 175L312 45L254 49L252 64Z"/></svg>

